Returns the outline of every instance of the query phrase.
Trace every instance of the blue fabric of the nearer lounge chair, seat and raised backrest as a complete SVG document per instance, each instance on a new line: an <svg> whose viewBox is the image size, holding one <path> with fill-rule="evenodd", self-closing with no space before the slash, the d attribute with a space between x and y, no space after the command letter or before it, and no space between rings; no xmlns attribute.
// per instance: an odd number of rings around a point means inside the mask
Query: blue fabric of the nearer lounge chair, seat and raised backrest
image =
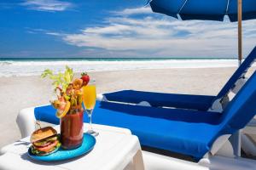
<svg viewBox="0 0 256 170"><path fill-rule="evenodd" d="M221 137L245 127L256 113L256 71L222 113L125 105L97 101L93 121L125 127L138 136L141 144L170 150L200 159L213 153ZM35 108L35 117L59 124L55 109L48 105ZM87 122L87 117L84 116Z"/></svg>

